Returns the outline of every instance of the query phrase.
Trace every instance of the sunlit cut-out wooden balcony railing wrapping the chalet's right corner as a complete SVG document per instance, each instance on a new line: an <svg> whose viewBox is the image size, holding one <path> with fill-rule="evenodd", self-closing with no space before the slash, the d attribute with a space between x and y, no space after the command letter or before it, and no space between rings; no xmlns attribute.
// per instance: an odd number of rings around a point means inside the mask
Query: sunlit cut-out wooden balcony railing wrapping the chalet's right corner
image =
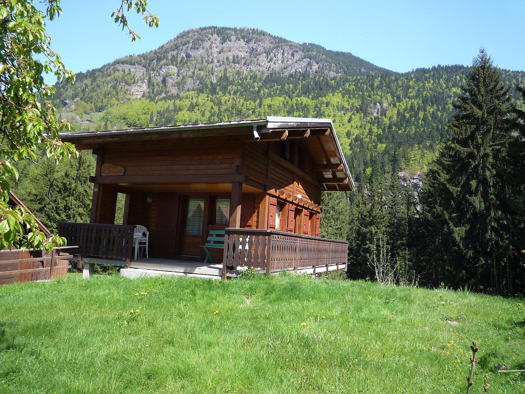
<svg viewBox="0 0 525 394"><path fill-rule="evenodd" d="M276 230L226 229L223 278L230 267L274 270L346 264L348 242Z"/></svg>

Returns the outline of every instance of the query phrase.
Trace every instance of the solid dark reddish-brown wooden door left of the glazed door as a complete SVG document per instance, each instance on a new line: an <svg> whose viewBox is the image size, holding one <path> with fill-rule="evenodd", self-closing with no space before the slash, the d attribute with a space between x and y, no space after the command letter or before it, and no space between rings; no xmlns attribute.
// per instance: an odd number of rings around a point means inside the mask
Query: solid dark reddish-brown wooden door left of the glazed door
<svg viewBox="0 0 525 394"><path fill-rule="evenodd" d="M174 258L179 239L179 217L181 196L178 194L159 195L155 198L155 229L150 234L150 256Z"/></svg>

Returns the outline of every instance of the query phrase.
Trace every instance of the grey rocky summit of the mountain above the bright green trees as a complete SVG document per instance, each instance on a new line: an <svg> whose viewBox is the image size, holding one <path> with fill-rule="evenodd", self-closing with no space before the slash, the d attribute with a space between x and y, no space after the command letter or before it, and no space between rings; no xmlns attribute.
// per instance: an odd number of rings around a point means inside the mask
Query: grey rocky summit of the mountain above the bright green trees
<svg viewBox="0 0 525 394"><path fill-rule="evenodd" d="M339 75L390 72L349 53L313 44L297 44L258 29L205 27L187 30L142 55L123 57L77 74L76 87L100 82L128 93L128 99L159 99L215 82L224 72L268 76ZM62 86L65 87L65 86ZM60 89L57 98L70 100L78 91Z"/></svg>

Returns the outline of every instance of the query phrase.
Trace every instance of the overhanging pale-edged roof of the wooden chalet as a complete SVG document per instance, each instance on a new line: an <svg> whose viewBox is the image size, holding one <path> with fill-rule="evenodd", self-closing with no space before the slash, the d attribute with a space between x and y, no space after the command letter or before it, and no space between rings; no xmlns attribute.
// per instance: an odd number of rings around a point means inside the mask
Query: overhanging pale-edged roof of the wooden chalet
<svg viewBox="0 0 525 394"><path fill-rule="evenodd" d="M310 133L312 131L312 133ZM301 133L305 142L316 155L319 165L325 165L328 178L333 177L333 184L349 183L354 190L354 182L341 145L335 133L331 119L291 118L269 116L266 119L235 120L230 122L198 123L163 127L132 128L122 130L92 131L82 133L61 133L62 141L76 144L77 149L93 149L103 144L119 141L138 141L166 138L195 138L238 135L254 135L257 132L261 141L276 140L275 134L281 133L280 139L286 139L282 132ZM309 137L309 138L308 138ZM255 135L254 135L255 138ZM341 164L342 168L334 170ZM344 177L337 177L342 171ZM345 182L346 180L346 182Z"/></svg>

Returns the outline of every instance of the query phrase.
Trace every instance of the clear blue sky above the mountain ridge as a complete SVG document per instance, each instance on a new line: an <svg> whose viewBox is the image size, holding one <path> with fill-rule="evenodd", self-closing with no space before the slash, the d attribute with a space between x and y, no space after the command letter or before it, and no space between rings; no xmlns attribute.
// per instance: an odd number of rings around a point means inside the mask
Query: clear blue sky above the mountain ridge
<svg viewBox="0 0 525 394"><path fill-rule="evenodd" d="M62 15L47 25L52 48L73 71L85 71L155 49L183 30L216 25L260 28L294 42L350 52L395 71L469 65L481 46L498 66L525 70L523 0L149 3L161 24L150 29L131 15L131 28L142 37L131 44L110 18L119 0L62 0ZM53 83L53 77L47 82Z"/></svg>

